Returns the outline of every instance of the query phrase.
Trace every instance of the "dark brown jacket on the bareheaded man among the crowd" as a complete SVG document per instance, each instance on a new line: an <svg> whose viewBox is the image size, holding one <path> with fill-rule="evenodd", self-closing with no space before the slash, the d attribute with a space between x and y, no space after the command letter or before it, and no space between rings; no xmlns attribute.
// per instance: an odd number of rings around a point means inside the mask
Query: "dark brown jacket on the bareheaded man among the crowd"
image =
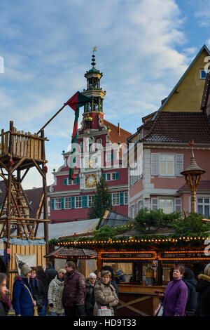
<svg viewBox="0 0 210 330"><path fill-rule="evenodd" d="M85 277L77 270L66 272L62 303L68 307L85 303Z"/></svg>

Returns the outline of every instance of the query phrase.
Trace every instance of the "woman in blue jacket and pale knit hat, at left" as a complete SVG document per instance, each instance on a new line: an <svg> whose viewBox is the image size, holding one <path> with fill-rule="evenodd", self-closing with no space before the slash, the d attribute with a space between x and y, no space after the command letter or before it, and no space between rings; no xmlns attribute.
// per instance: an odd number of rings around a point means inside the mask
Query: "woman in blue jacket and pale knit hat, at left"
<svg viewBox="0 0 210 330"><path fill-rule="evenodd" d="M20 276L16 277L13 284L13 308L17 316L34 316L34 304L31 284L29 283L31 268L25 263L18 264ZM31 294L30 294L31 293Z"/></svg>

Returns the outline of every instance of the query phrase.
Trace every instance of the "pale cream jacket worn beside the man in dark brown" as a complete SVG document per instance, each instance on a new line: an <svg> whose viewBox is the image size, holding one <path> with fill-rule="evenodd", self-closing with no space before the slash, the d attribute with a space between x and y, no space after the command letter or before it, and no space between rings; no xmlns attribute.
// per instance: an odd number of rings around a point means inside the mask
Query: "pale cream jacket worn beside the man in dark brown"
<svg viewBox="0 0 210 330"><path fill-rule="evenodd" d="M52 279L48 290L48 303L53 304L53 307L49 307L50 312L56 314L62 314L64 312L64 306L62 304L62 293L64 291L64 280L60 281L57 276Z"/></svg>

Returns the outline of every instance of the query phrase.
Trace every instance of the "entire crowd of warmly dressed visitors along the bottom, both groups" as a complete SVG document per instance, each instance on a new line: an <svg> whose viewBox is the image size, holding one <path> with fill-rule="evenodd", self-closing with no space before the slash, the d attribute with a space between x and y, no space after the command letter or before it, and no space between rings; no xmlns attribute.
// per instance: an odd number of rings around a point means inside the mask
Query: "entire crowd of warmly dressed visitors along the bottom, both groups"
<svg viewBox="0 0 210 330"><path fill-rule="evenodd" d="M7 277L0 273L0 316L8 315L12 305L16 316L45 316L47 308L52 316L97 316L102 306L116 315L118 286L110 266L95 270L87 279L69 260L59 272L50 262L46 270L21 262L18 266L20 275L13 284L12 301L8 298ZM162 316L210 316L210 263L198 280L190 268L177 265L165 293L157 291L157 295Z"/></svg>

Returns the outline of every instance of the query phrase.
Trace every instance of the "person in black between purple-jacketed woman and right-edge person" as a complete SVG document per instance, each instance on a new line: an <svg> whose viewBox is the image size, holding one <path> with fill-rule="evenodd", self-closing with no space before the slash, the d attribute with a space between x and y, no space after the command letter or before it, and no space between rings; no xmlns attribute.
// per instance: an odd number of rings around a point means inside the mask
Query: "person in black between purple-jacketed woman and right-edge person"
<svg viewBox="0 0 210 330"><path fill-rule="evenodd" d="M183 282L185 282L186 286L188 286L188 300L186 303L185 314L187 316L193 316L197 304L197 292L195 291L197 280L195 279L193 270L191 270L190 268L185 268Z"/></svg>

